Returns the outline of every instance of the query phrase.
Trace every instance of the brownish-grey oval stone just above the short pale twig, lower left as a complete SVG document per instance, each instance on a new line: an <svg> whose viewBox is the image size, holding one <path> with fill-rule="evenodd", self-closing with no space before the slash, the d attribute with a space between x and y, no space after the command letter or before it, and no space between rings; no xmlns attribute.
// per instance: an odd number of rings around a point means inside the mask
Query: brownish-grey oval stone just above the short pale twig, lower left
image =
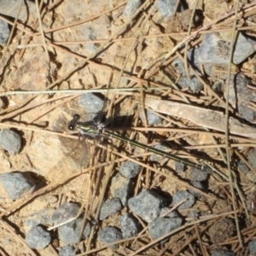
<svg viewBox="0 0 256 256"><path fill-rule="evenodd" d="M76 217L79 212L79 206L75 203L64 202L58 209L55 210L51 217L52 222L61 224L70 218Z"/></svg>

